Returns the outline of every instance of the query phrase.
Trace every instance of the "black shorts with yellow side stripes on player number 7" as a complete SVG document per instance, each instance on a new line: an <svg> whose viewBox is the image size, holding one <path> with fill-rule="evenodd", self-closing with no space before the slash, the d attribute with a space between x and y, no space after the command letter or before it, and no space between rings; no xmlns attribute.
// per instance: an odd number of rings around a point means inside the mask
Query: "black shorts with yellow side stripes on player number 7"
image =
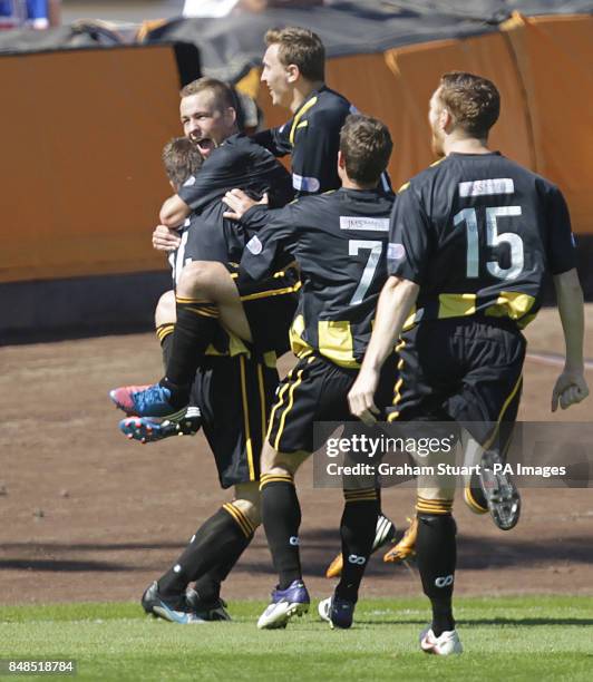
<svg viewBox="0 0 593 682"><path fill-rule="evenodd" d="M391 403L397 379L396 363L392 355L383 366L375 396L378 408ZM268 442L274 450L312 452L315 421L359 422L348 408L348 392L358 371L339 367L315 354L299 360L281 381L272 407Z"/></svg>

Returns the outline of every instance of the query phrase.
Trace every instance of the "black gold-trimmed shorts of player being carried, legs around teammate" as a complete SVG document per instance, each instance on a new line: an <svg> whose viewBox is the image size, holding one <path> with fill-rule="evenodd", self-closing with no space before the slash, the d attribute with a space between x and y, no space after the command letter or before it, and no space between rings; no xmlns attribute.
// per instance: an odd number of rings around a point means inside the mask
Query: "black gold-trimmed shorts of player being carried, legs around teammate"
<svg viewBox="0 0 593 682"><path fill-rule="evenodd" d="M295 267L285 267L265 280L236 276L235 284L250 324L257 353L290 350L289 330L296 311L301 286Z"/></svg>

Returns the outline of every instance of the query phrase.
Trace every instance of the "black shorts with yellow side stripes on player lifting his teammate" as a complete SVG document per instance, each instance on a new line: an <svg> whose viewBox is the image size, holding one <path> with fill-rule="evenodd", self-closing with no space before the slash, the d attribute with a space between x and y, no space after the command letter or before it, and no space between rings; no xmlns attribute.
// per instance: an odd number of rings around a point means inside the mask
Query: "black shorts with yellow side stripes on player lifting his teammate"
<svg viewBox="0 0 593 682"><path fill-rule="evenodd" d="M206 357L197 370L192 403L202 410L223 488L260 479L260 455L278 382L275 367L245 355Z"/></svg>

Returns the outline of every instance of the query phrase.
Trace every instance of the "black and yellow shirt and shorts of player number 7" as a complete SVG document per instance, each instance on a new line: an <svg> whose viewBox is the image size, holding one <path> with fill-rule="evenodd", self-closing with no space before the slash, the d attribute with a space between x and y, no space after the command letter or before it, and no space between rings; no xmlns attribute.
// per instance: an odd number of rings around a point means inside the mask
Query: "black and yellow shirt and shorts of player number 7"
<svg viewBox="0 0 593 682"><path fill-rule="evenodd" d="M312 451L313 422L352 419L347 394L371 334L387 277L386 249L392 196L339 189L300 198L271 216L247 243L243 277L264 277L289 253L302 288L291 328L299 362L281 382L268 440L282 452ZM265 220L251 208L244 225ZM393 364L386 363L378 405L392 394Z"/></svg>

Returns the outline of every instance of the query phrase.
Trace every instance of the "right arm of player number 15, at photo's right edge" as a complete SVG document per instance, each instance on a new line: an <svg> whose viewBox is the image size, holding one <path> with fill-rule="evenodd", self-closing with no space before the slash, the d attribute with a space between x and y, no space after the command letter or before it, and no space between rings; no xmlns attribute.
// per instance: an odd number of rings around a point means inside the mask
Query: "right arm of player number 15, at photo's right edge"
<svg viewBox="0 0 593 682"><path fill-rule="evenodd" d="M552 411L558 403L565 410L589 396L584 378L583 291L576 272L576 244L571 228L568 207L557 187L545 192L545 215L548 222L547 262L552 271L560 319L566 348L564 369L552 391Z"/></svg>

